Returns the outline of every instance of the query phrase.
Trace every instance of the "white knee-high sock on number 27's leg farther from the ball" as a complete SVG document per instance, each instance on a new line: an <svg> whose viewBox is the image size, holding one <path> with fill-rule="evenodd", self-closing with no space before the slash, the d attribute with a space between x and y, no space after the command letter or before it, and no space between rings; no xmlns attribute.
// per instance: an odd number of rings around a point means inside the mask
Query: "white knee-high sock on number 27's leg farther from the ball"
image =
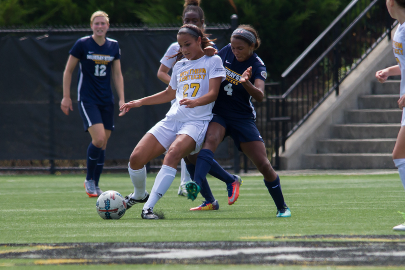
<svg viewBox="0 0 405 270"><path fill-rule="evenodd" d="M172 167L166 165L161 166L159 173L156 175L149 199L144 204L143 209L149 209L150 207L153 209L157 201L165 195L166 191L168 191L170 185L173 183L176 172L177 170Z"/></svg>

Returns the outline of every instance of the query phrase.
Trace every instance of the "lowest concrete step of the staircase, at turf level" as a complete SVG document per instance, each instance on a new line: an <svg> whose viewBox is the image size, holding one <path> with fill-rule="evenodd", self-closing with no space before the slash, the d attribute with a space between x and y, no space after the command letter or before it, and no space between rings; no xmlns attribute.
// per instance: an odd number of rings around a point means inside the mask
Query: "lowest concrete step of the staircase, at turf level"
<svg viewBox="0 0 405 270"><path fill-rule="evenodd" d="M391 153L334 153L304 155L306 169L395 169Z"/></svg>

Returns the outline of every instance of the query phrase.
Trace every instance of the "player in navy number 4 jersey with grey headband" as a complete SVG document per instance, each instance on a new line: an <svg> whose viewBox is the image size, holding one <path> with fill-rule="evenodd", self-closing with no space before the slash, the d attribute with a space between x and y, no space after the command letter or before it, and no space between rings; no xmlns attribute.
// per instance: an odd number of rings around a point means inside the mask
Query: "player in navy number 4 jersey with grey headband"
<svg viewBox="0 0 405 270"><path fill-rule="evenodd" d="M226 80L221 83L203 149L197 154L194 182L187 183L186 188L191 199L195 199L200 189L207 189L205 177L211 169L214 152L224 137L231 136L239 151L244 152L263 174L264 184L277 207L276 216L290 217L290 209L281 192L280 179L271 167L264 141L256 127L256 112L251 102L252 97L258 102L264 98L266 67L254 53L259 46L256 30L250 25L240 25L233 31L231 43L218 52L225 67ZM188 159L193 160L195 156L188 156ZM215 200L211 190L204 192L208 196L201 195L206 201L190 210L201 210L204 207L216 210L210 207Z"/></svg>

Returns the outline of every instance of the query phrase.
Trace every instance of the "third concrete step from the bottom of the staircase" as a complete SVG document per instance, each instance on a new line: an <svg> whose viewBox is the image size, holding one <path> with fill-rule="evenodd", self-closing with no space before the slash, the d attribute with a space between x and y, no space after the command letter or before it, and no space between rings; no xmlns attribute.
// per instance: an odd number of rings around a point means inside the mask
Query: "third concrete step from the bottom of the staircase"
<svg viewBox="0 0 405 270"><path fill-rule="evenodd" d="M331 127L331 138L376 139L396 138L401 124L343 124Z"/></svg>

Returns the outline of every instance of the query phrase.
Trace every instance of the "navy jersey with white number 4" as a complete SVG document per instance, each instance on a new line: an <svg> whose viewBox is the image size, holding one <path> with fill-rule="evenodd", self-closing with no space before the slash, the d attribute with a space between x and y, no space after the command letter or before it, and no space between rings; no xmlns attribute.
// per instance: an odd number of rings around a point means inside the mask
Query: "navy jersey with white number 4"
<svg viewBox="0 0 405 270"><path fill-rule="evenodd" d="M212 112L225 118L255 119L256 111L251 102L252 96L240 83L240 78L248 67L252 67L250 82L267 78L266 66L256 53L244 62L238 62L228 44L218 55L222 59L226 71L226 80L221 83L218 98Z"/></svg>

